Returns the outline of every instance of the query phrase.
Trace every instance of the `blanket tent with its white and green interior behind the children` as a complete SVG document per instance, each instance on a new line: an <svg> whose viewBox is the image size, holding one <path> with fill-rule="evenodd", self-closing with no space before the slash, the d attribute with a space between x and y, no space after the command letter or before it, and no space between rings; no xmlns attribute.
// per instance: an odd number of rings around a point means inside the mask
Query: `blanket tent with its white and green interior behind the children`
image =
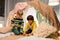
<svg viewBox="0 0 60 40"><path fill-rule="evenodd" d="M11 26L11 20L18 10L23 10L23 19L26 23L26 17L33 15L37 25L42 21L58 28L59 21L52 7L42 3L40 0L33 0L29 2L19 2L14 6L14 9L10 11L7 19L7 27Z"/></svg>

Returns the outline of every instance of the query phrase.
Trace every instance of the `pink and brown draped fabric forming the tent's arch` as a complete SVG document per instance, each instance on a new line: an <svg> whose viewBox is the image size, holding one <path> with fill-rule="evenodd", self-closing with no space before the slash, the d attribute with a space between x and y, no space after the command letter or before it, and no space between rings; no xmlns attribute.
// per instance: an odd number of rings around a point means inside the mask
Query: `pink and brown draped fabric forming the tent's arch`
<svg viewBox="0 0 60 40"><path fill-rule="evenodd" d="M58 27L59 21L57 19L57 16L55 14L55 11L53 10L52 7L42 3L41 1L31 1L31 2L19 2L16 4L12 12L9 13L8 19L7 19L7 24L6 26L9 27L11 26L11 19L14 16L14 13L16 13L17 10L24 10L28 6L33 6L37 10L39 10L44 16L46 16L47 19L49 19L52 22L52 25L55 27ZM23 7L22 7L23 6ZM15 10L15 11L14 11ZM9 24L9 25L8 25Z"/></svg>

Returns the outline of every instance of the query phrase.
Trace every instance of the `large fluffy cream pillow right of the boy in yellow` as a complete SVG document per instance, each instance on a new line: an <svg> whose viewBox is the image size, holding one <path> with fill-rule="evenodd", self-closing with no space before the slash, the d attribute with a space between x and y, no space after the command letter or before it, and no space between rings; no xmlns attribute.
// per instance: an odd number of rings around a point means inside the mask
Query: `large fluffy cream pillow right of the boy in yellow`
<svg viewBox="0 0 60 40"><path fill-rule="evenodd" d="M55 27L49 25L48 23L41 22L40 26L36 28L33 34L34 36L38 36L38 37L47 37L51 33L54 33L56 31L57 29Z"/></svg>

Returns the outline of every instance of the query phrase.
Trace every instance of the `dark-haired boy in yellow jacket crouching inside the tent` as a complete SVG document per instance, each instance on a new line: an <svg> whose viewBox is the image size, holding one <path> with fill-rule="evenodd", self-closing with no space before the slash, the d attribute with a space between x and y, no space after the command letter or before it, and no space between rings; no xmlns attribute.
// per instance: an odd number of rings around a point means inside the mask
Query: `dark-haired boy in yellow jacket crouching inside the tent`
<svg viewBox="0 0 60 40"><path fill-rule="evenodd" d="M28 23L24 27L24 33L25 34L33 34L33 32L35 31L37 25L36 25L32 15L29 15L27 17L27 20L28 20Z"/></svg>

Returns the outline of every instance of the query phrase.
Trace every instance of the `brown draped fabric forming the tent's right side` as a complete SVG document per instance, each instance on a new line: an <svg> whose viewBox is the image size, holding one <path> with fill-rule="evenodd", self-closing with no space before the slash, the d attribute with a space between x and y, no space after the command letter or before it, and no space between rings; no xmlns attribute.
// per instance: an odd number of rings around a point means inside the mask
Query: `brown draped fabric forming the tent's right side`
<svg viewBox="0 0 60 40"><path fill-rule="evenodd" d="M39 10L47 19L49 19L53 23L53 26L58 27L59 21L52 7L42 3L41 1L32 1L28 2L28 4L34 6L37 10Z"/></svg>

